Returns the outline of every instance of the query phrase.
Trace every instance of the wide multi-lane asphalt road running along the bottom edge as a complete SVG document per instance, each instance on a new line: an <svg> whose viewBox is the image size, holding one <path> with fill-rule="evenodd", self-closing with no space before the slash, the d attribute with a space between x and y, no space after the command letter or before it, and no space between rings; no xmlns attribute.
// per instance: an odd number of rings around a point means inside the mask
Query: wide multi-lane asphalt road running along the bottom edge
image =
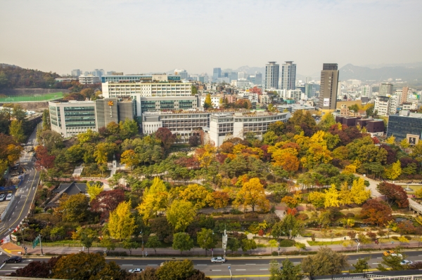
<svg viewBox="0 0 422 280"><path fill-rule="evenodd" d="M422 251L405 251L405 255L407 255L407 260L411 260L413 262L422 261ZM381 258L383 253L359 253L359 254L352 254L348 255L348 259L350 264L356 263L358 258L365 258L370 257L368 264L371 267L371 271L373 271L379 262L381 262ZM2 262L6 255L0 255L0 261ZM25 267L30 262L34 260L39 261L46 261L49 260L50 257L42 257L42 258L31 258L28 256L27 258L23 258L23 262L21 263L7 263L3 267L0 268L0 275L10 274L14 272L18 268ZM289 258L295 265L299 264L302 261L302 258L306 258L306 256L293 256ZM281 264L283 260L286 258L274 258ZM145 269L146 267L159 267L161 262L165 262L167 260L171 260L170 258L107 258L108 261L115 261L117 265L120 265L122 269L134 269L134 268L142 268ZM248 279L248 280L267 280L269 279L269 262L270 257L264 258L228 258L228 260L224 264L212 264L210 259L193 259L193 264L196 269L200 269L201 271L205 272L207 276L210 276L212 279L230 279L229 273L229 266L231 267L231 274L233 274L234 279ZM353 268L353 267L350 267Z"/></svg>

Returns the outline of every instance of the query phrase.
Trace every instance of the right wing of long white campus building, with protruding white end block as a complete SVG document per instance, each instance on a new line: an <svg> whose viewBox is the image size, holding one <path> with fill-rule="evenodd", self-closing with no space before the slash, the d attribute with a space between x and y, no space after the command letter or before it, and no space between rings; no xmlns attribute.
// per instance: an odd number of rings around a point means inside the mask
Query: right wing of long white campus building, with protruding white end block
<svg viewBox="0 0 422 280"><path fill-rule="evenodd" d="M207 130L210 141L216 147L230 138L244 138L246 133L254 133L258 138L267 132L269 124L276 121L286 122L290 113L270 112L236 112L211 114L210 126Z"/></svg>

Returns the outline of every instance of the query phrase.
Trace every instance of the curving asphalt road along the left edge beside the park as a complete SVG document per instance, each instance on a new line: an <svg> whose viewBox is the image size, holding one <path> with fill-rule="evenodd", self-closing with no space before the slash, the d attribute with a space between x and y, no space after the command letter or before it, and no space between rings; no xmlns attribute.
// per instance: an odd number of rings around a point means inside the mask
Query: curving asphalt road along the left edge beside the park
<svg viewBox="0 0 422 280"><path fill-rule="evenodd" d="M37 145L36 131L35 129L28 139L27 147ZM23 152L23 155L20 157L20 166L25 171L25 176L22 185L15 192L15 200L11 208L9 208L4 220L0 222L0 239L11 234L30 212L39 182L39 172L34 168L34 160L34 157L27 152Z"/></svg>

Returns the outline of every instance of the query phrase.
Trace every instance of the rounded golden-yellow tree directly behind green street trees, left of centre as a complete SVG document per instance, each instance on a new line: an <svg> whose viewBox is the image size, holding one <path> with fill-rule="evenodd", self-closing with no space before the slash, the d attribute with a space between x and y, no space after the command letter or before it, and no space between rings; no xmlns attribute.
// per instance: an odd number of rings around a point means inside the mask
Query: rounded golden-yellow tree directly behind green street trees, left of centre
<svg viewBox="0 0 422 280"><path fill-rule="evenodd" d="M175 231L184 232L196 216L196 208L190 201L174 200L166 212L167 220Z"/></svg>

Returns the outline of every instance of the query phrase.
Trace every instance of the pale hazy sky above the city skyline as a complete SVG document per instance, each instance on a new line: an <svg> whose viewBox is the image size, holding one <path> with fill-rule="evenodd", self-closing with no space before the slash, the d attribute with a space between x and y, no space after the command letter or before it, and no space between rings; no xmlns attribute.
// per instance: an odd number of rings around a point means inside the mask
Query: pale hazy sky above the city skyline
<svg viewBox="0 0 422 280"><path fill-rule="evenodd" d="M0 62L70 73L422 61L421 0L0 0Z"/></svg>

